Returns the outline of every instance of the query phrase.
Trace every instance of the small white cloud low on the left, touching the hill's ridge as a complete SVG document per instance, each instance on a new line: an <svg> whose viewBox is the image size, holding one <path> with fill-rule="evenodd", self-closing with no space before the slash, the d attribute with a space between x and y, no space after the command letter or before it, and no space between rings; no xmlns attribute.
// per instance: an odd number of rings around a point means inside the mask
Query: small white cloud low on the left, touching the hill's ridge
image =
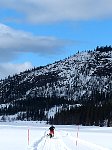
<svg viewBox="0 0 112 150"><path fill-rule="evenodd" d="M12 76L31 68L33 68L33 66L30 62L25 62L23 64L1 63L0 78L4 79L5 77L8 77L8 75Z"/></svg>

